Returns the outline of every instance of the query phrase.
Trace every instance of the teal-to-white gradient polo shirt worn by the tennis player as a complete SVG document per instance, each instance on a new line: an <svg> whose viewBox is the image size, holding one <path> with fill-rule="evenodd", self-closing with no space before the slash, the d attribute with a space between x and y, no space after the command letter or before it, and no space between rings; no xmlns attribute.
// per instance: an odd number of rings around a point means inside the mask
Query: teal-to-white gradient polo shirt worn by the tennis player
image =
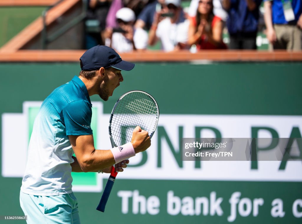
<svg viewBox="0 0 302 224"><path fill-rule="evenodd" d="M91 108L86 86L77 76L43 101L28 147L23 193L52 196L72 192L74 152L68 135L92 135Z"/></svg>

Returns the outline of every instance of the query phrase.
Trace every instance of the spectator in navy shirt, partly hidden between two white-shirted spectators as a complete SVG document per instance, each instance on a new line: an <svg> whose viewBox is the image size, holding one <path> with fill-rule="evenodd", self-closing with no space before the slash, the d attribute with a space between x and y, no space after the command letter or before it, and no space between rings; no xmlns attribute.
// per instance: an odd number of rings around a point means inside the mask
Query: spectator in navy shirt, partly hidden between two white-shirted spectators
<svg viewBox="0 0 302 224"><path fill-rule="evenodd" d="M149 3L146 7L141 11L140 15L138 15L137 21L135 23L136 28L146 28L149 30L153 23L154 15L156 13L156 7L160 7L161 9L165 8L167 10L167 6L165 5L165 0L158 0Z"/></svg>

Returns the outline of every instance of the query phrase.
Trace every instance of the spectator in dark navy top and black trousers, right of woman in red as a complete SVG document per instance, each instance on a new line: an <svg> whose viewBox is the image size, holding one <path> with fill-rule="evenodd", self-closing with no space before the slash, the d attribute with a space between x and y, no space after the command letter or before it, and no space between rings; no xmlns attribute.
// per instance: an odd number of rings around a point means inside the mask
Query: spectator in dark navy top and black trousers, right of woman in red
<svg viewBox="0 0 302 224"><path fill-rule="evenodd" d="M259 7L262 0L223 0L229 14L226 26L230 49L257 49Z"/></svg>

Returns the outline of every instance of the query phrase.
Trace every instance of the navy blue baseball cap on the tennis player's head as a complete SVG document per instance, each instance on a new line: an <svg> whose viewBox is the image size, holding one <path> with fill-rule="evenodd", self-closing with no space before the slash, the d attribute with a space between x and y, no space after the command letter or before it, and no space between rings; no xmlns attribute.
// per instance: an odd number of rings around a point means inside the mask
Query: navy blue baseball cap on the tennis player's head
<svg viewBox="0 0 302 224"><path fill-rule="evenodd" d="M99 70L101 67L113 67L122 71L130 71L135 65L131 62L123 61L115 50L102 45L86 50L80 60L82 61L81 69L85 71Z"/></svg>

